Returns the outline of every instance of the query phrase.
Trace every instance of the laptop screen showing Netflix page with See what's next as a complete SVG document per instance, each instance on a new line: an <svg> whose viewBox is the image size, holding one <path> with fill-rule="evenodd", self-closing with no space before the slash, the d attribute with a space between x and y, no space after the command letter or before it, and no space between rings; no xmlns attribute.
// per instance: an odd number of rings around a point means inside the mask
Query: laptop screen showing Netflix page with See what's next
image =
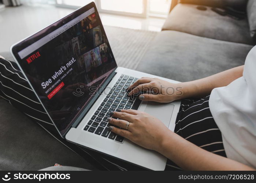
<svg viewBox="0 0 256 183"><path fill-rule="evenodd" d="M12 52L62 135L116 68L94 3L20 42Z"/></svg>

